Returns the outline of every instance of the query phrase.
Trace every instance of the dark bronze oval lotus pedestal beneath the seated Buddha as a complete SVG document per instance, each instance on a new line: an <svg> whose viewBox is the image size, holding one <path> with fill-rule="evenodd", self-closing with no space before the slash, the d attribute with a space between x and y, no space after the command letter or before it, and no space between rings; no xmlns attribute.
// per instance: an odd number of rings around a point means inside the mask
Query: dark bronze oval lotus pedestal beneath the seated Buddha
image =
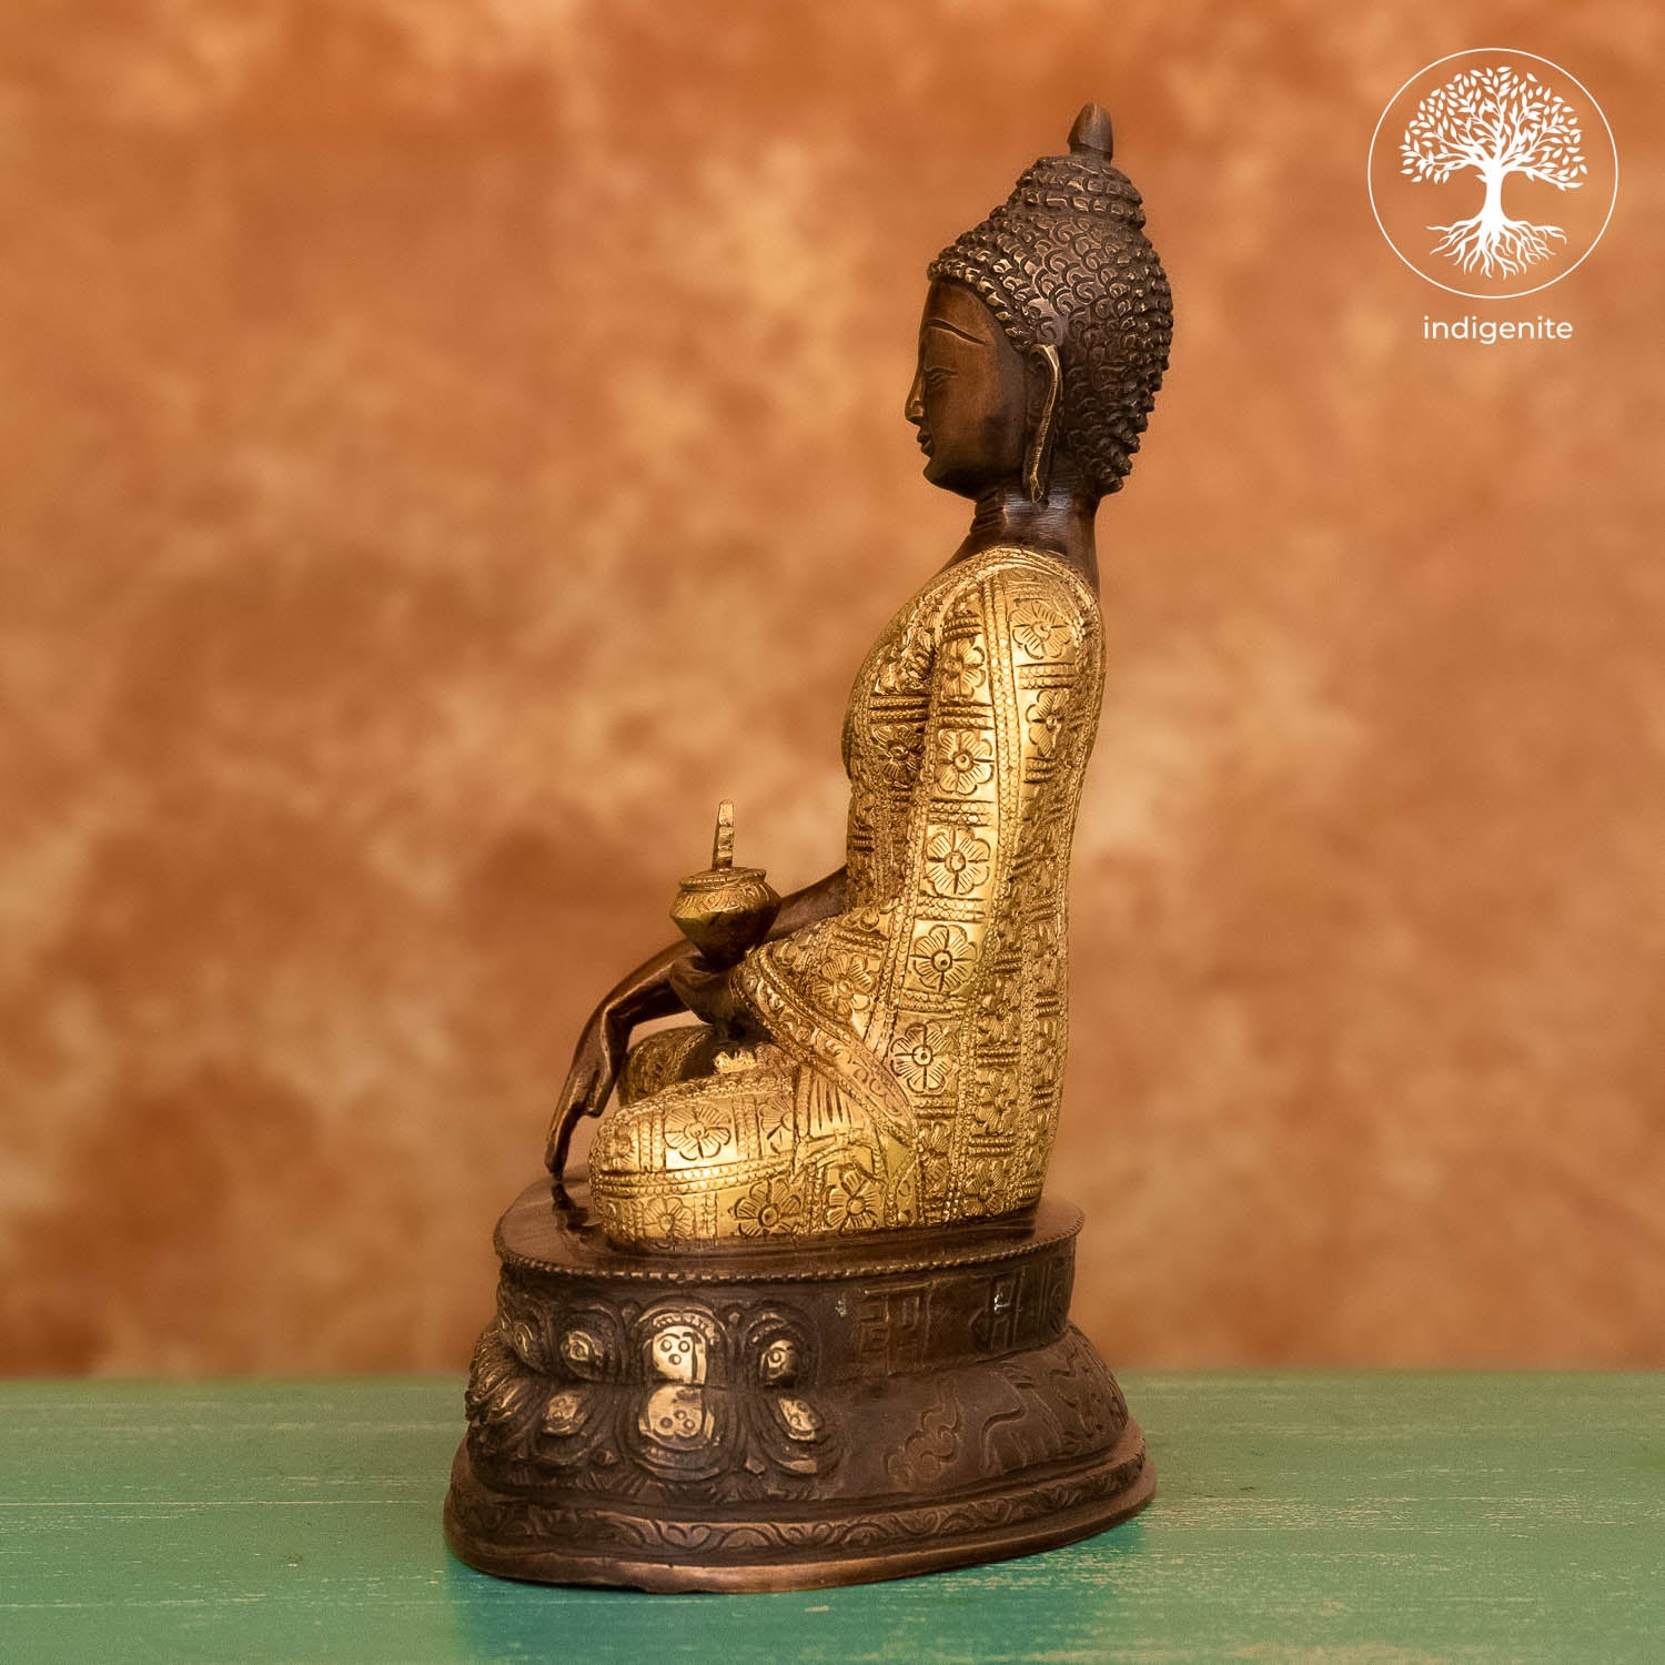
<svg viewBox="0 0 1665 1665"><path fill-rule="evenodd" d="M445 1505L481 1572L794 1590L1027 1555L1154 1490L1069 1324L1081 1212L624 1252L528 1187L498 1227Z"/></svg>

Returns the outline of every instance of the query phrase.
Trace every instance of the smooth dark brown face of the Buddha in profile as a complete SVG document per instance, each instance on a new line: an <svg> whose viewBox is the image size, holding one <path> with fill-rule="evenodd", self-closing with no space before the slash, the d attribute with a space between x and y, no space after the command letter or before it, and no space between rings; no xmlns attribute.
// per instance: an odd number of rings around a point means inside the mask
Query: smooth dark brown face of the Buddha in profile
<svg viewBox="0 0 1665 1665"><path fill-rule="evenodd" d="M976 498L1022 473L1027 378L994 313L964 283L937 278L919 323L919 368L907 420L919 430L926 480Z"/></svg>

